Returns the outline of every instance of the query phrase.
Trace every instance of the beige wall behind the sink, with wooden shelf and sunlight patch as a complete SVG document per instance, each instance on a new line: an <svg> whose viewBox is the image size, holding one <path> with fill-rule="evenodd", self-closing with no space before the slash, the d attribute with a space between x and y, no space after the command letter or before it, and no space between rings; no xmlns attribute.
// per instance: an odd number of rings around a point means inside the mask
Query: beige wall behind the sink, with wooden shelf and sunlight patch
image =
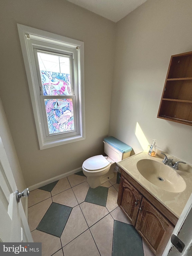
<svg viewBox="0 0 192 256"><path fill-rule="evenodd" d="M142 137L156 138L160 149L190 164L192 126L157 114L171 55L192 51L191 14L191 0L148 0L116 23L109 126L136 153Z"/></svg>

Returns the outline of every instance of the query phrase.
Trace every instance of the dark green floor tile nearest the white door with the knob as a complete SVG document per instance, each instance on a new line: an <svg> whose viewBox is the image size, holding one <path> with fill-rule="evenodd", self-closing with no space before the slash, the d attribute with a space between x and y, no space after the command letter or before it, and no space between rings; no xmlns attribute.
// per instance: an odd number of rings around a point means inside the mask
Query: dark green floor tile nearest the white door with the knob
<svg viewBox="0 0 192 256"><path fill-rule="evenodd" d="M59 203L52 203L39 223L37 230L61 237L72 207Z"/></svg>

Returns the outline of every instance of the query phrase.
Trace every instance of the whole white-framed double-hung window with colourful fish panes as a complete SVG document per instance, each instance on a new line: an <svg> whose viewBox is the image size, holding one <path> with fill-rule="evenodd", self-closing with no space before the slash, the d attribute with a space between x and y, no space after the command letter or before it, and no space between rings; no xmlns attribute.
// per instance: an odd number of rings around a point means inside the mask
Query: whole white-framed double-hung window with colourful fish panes
<svg viewBox="0 0 192 256"><path fill-rule="evenodd" d="M17 26L40 149L85 139L84 43Z"/></svg>

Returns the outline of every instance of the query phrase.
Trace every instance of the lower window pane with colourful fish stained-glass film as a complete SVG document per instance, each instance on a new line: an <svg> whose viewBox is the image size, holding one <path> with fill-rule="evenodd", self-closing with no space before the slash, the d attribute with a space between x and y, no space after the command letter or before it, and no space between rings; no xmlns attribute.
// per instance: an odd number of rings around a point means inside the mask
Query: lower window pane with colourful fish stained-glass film
<svg viewBox="0 0 192 256"><path fill-rule="evenodd" d="M72 99L46 99L49 134L74 130Z"/></svg>

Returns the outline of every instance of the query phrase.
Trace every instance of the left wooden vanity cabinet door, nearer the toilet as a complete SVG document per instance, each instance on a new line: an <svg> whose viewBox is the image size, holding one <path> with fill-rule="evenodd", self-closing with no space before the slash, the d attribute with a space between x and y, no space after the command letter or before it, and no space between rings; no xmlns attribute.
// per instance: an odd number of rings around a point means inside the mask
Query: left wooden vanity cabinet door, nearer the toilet
<svg viewBox="0 0 192 256"><path fill-rule="evenodd" d="M117 203L135 226L142 195L123 176L119 187Z"/></svg>

